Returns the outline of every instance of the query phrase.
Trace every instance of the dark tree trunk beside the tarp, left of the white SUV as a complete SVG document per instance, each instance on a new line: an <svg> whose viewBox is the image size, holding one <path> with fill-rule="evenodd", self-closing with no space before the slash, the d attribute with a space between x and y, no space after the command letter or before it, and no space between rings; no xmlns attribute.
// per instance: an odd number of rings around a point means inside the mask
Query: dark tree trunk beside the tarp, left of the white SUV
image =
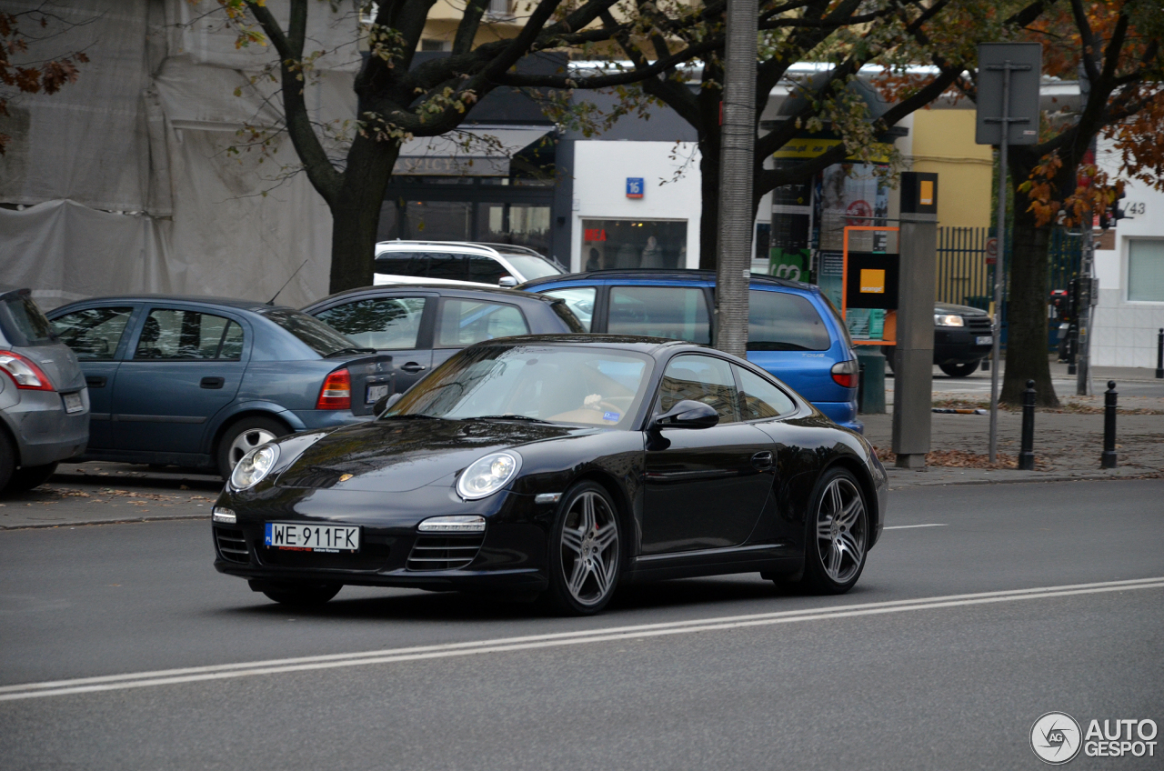
<svg viewBox="0 0 1164 771"><path fill-rule="evenodd" d="M352 143L342 184L331 204L329 292L371 285L379 212L399 154L398 141L357 135Z"/></svg>

